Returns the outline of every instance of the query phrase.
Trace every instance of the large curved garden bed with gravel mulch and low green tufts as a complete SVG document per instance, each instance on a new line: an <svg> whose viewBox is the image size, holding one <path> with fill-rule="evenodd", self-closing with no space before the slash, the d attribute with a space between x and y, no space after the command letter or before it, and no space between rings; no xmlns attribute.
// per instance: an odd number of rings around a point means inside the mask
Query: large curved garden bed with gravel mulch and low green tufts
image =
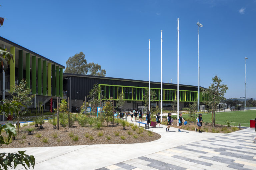
<svg viewBox="0 0 256 170"><path fill-rule="evenodd" d="M3 145L3 147L15 148L141 143L157 140L161 137L159 134L154 132L152 132L152 136L149 136L149 132L144 128L137 127L132 123L125 121L122 121L121 123L118 121L119 125L114 123L114 126L109 122L107 126L106 122L101 123L99 119L97 120L96 118L86 117L81 114L71 114L71 119L77 121L74 122L73 127L68 127L67 117L62 114L61 119L62 121L59 120L59 122L64 126L62 127L62 125L59 124L59 130L53 128L53 121L51 121L51 124L49 122L45 122L42 129L40 129L39 126L37 128L31 126L31 128L33 128L32 135L28 135L28 132L26 131L28 126L21 127L20 133L17 134L16 139L9 145ZM42 121L40 120L38 121L38 125L40 124L39 122L42 124ZM82 126L80 124L82 124ZM126 130L123 130L123 127L125 127ZM135 129L135 131L133 129ZM139 131L140 134L137 135L136 131ZM2 134L6 135L5 133ZM28 143L30 143L30 145Z"/></svg>

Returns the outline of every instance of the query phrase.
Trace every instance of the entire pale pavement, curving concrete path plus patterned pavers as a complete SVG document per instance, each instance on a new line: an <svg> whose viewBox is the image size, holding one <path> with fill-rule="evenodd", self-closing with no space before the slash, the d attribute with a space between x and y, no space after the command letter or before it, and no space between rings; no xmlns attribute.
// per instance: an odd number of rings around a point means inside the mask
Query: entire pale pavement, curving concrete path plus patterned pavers
<svg viewBox="0 0 256 170"><path fill-rule="evenodd" d="M256 168L256 143L252 143L252 137L256 136L254 129L219 134L178 132L177 128L166 132L163 127L150 128L162 137L146 143L8 148L1 151L27 150L27 154L35 156L35 170ZM18 166L17 169L24 168Z"/></svg>

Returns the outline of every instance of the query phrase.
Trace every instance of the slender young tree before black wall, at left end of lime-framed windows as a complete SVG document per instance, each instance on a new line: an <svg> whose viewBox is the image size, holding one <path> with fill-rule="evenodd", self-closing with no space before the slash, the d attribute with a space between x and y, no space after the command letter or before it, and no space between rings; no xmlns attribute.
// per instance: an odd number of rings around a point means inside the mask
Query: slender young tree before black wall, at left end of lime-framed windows
<svg viewBox="0 0 256 170"><path fill-rule="evenodd" d="M100 99L99 99L100 92L101 92L100 87L97 83L94 84L93 88L89 92L88 98L91 100L90 104L91 104L93 112L96 111L97 106L99 106L99 104L100 104Z"/></svg>

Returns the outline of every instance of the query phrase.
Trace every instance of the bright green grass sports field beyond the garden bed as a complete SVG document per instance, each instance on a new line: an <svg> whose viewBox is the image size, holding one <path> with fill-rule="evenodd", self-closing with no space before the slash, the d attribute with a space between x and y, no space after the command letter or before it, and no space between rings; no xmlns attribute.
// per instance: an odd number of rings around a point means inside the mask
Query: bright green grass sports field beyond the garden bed
<svg viewBox="0 0 256 170"><path fill-rule="evenodd" d="M188 115L182 115L184 119ZM203 122L209 122L211 123L211 114L203 114L202 116ZM215 114L215 121L216 124L220 125L226 125L224 121L232 121L232 126L239 126L238 124L241 124L241 126L244 127L250 127L250 120L256 118L256 110L250 110L250 111L234 111L234 112L220 112L218 114Z"/></svg>

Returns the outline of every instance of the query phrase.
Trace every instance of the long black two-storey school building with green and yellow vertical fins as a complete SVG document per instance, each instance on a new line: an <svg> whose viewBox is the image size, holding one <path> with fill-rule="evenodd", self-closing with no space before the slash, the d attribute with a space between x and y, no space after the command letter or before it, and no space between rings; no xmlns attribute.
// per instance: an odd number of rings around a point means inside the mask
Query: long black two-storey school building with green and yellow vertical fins
<svg viewBox="0 0 256 170"><path fill-rule="evenodd" d="M85 100L90 100L86 97L97 83L103 100L113 97L116 101L119 94L123 93L125 111L135 108L143 110L143 94L148 88L148 81L63 73L65 66L3 37L0 37L0 46L7 48L14 59L4 73L1 69L1 99L11 99L10 92L13 87L24 79L27 81L27 87L32 89L31 94L36 95L32 105L27 107L36 108L38 103L41 103L44 111L49 111L56 108L57 97L69 97L70 111L75 112L76 107L80 108ZM156 93L156 100L151 102L151 106L160 106L161 83L151 81L150 87ZM197 86L180 84L179 88L180 109L197 101ZM170 110L177 95L177 84L163 83L163 108ZM200 92L200 102L203 100ZM0 116L0 121L2 119Z"/></svg>

